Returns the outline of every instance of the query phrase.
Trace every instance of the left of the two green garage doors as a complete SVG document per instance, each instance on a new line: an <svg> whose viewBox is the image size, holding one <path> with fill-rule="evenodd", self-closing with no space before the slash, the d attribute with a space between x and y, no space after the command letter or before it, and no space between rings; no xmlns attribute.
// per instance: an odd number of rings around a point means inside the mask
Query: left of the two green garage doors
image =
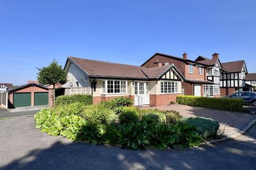
<svg viewBox="0 0 256 170"><path fill-rule="evenodd" d="M31 93L30 92L17 93L17 94L14 93L13 106L14 107L31 106Z"/></svg>

